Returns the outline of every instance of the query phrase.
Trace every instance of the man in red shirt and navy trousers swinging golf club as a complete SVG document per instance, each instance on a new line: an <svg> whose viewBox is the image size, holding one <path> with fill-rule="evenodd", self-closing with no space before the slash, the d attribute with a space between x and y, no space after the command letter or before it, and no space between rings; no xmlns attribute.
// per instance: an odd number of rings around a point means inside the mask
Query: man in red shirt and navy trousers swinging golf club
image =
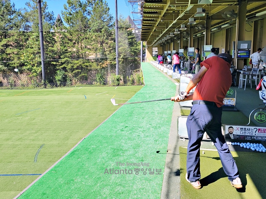
<svg viewBox="0 0 266 199"><path fill-rule="evenodd" d="M231 56L222 53L201 62L200 71L191 79L185 92L172 97L180 102L193 99L193 106L187 118L186 127L189 136L186 159L186 180L196 189L200 183L200 144L203 134L207 132L218 150L223 170L235 188L241 188L241 180L228 145L222 135L221 119L223 99L231 86ZM194 94L187 96L197 85Z"/></svg>

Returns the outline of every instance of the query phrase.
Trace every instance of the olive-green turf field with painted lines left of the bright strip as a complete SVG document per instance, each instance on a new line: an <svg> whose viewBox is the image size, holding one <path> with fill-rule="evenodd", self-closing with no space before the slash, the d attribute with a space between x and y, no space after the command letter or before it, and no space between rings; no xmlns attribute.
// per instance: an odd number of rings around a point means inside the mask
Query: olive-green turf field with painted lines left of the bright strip
<svg viewBox="0 0 266 199"><path fill-rule="evenodd" d="M0 90L0 174L42 174L119 108L114 95L124 103L141 88ZM0 176L0 198L14 198L37 177Z"/></svg>

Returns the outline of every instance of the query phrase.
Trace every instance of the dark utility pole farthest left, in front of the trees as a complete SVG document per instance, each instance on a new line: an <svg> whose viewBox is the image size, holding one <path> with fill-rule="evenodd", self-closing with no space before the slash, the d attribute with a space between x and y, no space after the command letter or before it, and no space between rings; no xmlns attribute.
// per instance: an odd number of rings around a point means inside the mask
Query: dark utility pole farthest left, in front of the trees
<svg viewBox="0 0 266 199"><path fill-rule="evenodd" d="M39 14L39 32L40 32L42 75L43 75L43 82L45 82L44 47L43 47L43 20L42 20L41 0L38 0L38 14Z"/></svg>

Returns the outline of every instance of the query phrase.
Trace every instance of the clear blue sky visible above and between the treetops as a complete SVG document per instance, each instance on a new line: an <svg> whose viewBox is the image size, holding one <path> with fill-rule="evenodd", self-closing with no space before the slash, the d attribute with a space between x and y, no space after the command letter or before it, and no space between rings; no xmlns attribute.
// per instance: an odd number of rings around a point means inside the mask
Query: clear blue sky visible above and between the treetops
<svg viewBox="0 0 266 199"><path fill-rule="evenodd" d="M28 0L11 0L11 3L14 2L15 8L19 9L19 8L26 7L25 3L27 1ZM67 0L46 0L46 2L48 4L48 11L50 12L53 11L54 17L57 17L58 14L60 14L61 16L61 10L64 10L63 5L67 4ZM110 8L110 13L113 14L113 17L115 17L115 0L106 0L106 2L108 3L108 6ZM134 8L135 8L135 11L134 11ZM140 17L140 15L138 14L132 15L131 13L132 11L138 12L137 5L134 6L134 8L132 9L132 6L128 3L127 0L117 0L118 16L119 14L123 14L124 17L127 17L129 15L132 19L137 19L138 17Z"/></svg>

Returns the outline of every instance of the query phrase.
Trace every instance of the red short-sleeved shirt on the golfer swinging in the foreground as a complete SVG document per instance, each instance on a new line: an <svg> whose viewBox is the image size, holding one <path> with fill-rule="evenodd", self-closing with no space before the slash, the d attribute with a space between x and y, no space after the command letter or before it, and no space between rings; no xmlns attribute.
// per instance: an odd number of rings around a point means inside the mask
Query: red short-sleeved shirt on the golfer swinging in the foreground
<svg viewBox="0 0 266 199"><path fill-rule="evenodd" d="M215 102L223 106L223 99L232 84L230 64L220 57L210 57L200 63L208 70L195 89L193 100Z"/></svg>

